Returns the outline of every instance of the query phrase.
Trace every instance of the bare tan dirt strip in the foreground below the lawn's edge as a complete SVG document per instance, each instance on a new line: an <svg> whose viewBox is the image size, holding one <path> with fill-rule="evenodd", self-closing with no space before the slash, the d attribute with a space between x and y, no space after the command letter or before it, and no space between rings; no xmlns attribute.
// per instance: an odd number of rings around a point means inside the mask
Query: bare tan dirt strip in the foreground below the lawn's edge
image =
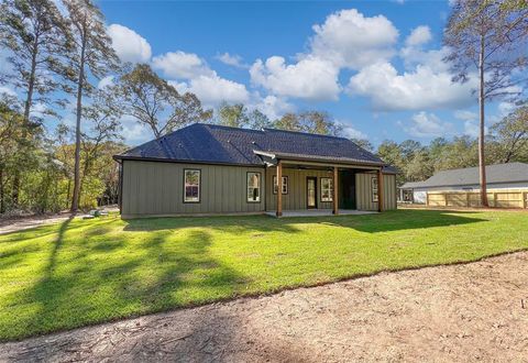
<svg viewBox="0 0 528 363"><path fill-rule="evenodd" d="M528 362L528 252L0 345L0 361Z"/></svg>

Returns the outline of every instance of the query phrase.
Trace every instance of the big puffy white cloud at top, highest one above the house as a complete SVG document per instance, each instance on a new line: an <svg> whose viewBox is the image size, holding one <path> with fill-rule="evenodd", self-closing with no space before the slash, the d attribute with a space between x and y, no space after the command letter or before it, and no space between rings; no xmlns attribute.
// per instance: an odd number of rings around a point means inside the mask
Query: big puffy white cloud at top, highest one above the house
<svg viewBox="0 0 528 363"><path fill-rule="evenodd" d="M397 29L385 16L367 18L355 9L332 13L312 29L311 54L353 69L388 59L398 37Z"/></svg>

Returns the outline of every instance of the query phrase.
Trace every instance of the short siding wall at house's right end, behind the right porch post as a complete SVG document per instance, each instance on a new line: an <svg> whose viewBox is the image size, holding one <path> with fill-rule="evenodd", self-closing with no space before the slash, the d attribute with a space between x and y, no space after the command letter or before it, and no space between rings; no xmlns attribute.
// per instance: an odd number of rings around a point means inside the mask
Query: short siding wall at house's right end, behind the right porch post
<svg viewBox="0 0 528 363"><path fill-rule="evenodd" d="M377 210L377 201L373 201L372 182L377 178L375 173L358 173L355 174L355 193L358 200L358 210ZM383 175L383 209L397 208L396 175Z"/></svg>

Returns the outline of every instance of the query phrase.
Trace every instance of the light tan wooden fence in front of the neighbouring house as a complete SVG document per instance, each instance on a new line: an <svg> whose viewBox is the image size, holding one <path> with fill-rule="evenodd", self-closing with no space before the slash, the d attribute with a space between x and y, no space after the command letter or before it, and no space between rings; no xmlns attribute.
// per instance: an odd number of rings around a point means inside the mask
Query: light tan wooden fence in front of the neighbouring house
<svg viewBox="0 0 528 363"><path fill-rule="evenodd" d="M528 190L487 190L490 207L528 208ZM428 191L429 207L481 207L480 191Z"/></svg>

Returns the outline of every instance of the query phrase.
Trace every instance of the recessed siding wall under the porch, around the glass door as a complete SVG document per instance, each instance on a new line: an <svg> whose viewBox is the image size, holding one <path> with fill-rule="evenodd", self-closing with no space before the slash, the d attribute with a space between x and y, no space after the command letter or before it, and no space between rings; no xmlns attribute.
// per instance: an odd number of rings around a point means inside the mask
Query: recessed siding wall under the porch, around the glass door
<svg viewBox="0 0 528 363"><path fill-rule="evenodd" d="M277 209L277 195L273 194L273 176L276 167L268 167L266 173L266 209ZM317 208L332 209L332 202L321 201L321 177L332 177L331 172L315 169L294 169L283 167L283 176L288 177L288 194L283 194L283 210L306 209L306 178L317 177Z"/></svg>

